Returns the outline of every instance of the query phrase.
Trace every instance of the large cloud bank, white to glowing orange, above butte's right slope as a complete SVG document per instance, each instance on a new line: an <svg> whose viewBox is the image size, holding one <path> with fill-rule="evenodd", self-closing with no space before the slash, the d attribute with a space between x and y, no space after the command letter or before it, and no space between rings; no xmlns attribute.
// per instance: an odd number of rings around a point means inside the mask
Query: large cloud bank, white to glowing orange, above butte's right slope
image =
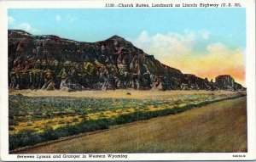
<svg viewBox="0 0 256 162"><path fill-rule="evenodd" d="M208 31L158 33L150 36L142 31L129 39L145 53L154 54L161 63L202 78L229 74L236 81L244 79L244 49L229 47L222 42L212 42Z"/></svg>

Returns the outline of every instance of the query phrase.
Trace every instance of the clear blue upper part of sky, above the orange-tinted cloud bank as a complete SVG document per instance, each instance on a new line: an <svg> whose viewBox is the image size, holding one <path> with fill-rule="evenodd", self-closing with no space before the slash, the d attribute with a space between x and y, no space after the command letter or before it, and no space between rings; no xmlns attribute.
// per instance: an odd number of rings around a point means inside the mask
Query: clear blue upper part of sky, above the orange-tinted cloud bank
<svg viewBox="0 0 256 162"><path fill-rule="evenodd" d="M15 24L27 23L33 34L55 34L84 42L96 42L113 35L136 37L168 32L209 31L212 39L245 46L244 8L174 9L9 9ZM29 30L28 30L29 31Z"/></svg>

